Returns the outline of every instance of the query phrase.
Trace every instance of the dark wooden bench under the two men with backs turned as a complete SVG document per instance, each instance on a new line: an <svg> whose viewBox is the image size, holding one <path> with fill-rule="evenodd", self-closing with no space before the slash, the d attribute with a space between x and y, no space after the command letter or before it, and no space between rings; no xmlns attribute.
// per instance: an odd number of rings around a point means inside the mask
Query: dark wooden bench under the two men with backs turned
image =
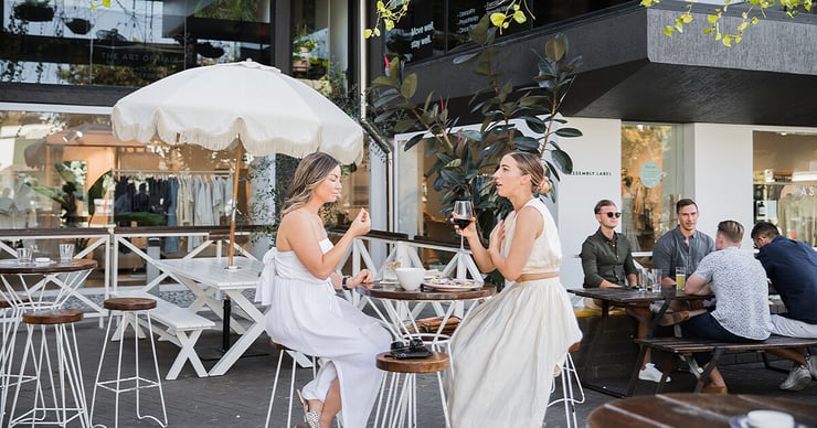
<svg viewBox="0 0 817 428"><path fill-rule="evenodd" d="M658 394L664 386L664 381L672 368L672 355L683 356L683 360L690 367L690 373L698 377L698 384L696 385L694 392L700 393L704 383L709 378L709 374L718 366L718 361L724 353L763 352L783 347L817 346L817 339L787 338L774 334L765 341L754 343L732 343L699 338L636 339L635 342L640 346L640 351L638 352L638 361L636 362L633 376L630 376L627 396L632 396L635 390L636 382L638 379L638 370L641 367L647 349L662 351L667 356L662 364L664 376L661 376L661 381L656 386L656 394ZM712 353L712 361L702 373L698 372L696 364L693 363L692 354L696 352Z"/></svg>

